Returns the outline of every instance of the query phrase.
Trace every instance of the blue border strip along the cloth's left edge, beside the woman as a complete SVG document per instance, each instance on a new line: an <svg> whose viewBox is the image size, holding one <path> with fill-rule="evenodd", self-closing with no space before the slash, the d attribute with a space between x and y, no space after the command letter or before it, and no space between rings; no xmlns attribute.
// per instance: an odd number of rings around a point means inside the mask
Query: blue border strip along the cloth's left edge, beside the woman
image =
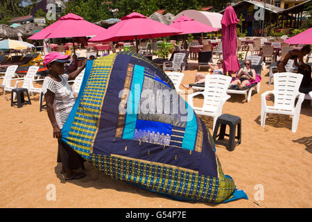
<svg viewBox="0 0 312 222"><path fill-rule="evenodd" d="M94 60L87 60L87 64L85 65L85 74L83 75L83 82L80 85L80 91L77 96L75 105L73 105L73 108L71 109L71 113L69 114L69 117L67 117L67 120L64 123L64 126L62 128L62 140L64 142L67 142L67 137L71 129L71 124L73 123L73 119L75 118L76 111L78 110L81 97L83 96L83 90L85 89L85 85L87 85L87 80L92 70L93 62Z"/></svg>

